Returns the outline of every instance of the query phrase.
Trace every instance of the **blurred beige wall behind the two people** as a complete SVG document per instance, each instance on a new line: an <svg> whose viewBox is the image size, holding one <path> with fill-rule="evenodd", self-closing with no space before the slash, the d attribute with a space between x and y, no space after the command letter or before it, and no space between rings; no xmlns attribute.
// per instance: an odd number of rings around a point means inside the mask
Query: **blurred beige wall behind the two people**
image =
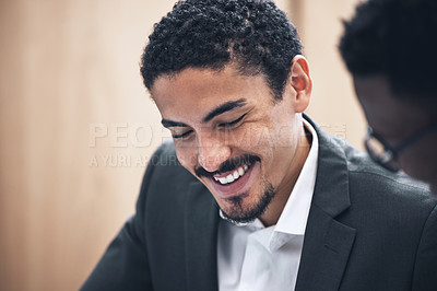
<svg viewBox="0 0 437 291"><path fill-rule="evenodd" d="M0 1L0 290L78 290L134 211L169 133L139 60L174 0ZM358 148L336 44L357 0L281 0L314 78L308 114Z"/></svg>

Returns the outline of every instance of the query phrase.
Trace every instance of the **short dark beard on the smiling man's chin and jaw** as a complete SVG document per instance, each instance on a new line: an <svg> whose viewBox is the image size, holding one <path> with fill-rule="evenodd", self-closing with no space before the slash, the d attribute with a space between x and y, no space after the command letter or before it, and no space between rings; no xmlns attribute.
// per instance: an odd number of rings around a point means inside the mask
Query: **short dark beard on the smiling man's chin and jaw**
<svg viewBox="0 0 437 291"><path fill-rule="evenodd" d="M247 195L243 194L240 196L235 196L227 199L227 201L233 205L232 209L229 209L227 212L222 209L222 214L226 220L235 223L252 222L265 212L275 195L276 191L274 190L272 184L268 183L260 201L256 206L250 209L244 209L241 206L241 200Z"/></svg>

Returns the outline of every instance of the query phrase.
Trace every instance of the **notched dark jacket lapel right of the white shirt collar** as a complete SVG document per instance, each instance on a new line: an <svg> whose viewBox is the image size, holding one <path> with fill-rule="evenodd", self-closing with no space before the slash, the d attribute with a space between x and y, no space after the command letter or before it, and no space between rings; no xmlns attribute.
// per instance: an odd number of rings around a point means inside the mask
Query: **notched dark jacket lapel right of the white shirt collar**
<svg viewBox="0 0 437 291"><path fill-rule="evenodd" d="M319 159L295 290L339 290L355 240L355 230L334 219L351 206L347 162L342 144L305 118L317 131Z"/></svg>

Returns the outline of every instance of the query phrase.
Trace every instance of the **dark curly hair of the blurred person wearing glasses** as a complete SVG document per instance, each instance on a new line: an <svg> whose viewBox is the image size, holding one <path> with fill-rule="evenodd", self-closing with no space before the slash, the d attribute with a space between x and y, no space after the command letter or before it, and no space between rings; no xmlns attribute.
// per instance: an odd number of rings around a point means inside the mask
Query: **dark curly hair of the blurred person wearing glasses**
<svg viewBox="0 0 437 291"><path fill-rule="evenodd" d="M340 53L352 74L385 75L399 97L436 104L436 0L369 0L344 22Z"/></svg>

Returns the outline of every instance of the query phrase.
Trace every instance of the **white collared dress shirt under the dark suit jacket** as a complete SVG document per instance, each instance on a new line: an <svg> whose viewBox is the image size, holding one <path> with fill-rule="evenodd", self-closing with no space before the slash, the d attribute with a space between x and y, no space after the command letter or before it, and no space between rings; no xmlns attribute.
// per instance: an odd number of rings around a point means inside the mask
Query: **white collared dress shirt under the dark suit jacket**
<svg viewBox="0 0 437 291"><path fill-rule="evenodd" d="M217 238L220 291L294 290L317 175L319 141L304 120L312 143L276 225L221 220Z"/></svg>

